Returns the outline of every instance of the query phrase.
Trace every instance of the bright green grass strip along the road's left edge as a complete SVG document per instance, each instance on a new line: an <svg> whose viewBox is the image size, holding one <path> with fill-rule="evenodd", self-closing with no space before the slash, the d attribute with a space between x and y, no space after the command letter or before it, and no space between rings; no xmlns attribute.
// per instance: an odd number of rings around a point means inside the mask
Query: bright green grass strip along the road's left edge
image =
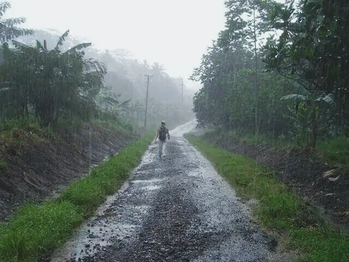
<svg viewBox="0 0 349 262"><path fill-rule="evenodd" d="M62 245L107 195L119 189L152 138L143 137L121 150L90 176L70 184L58 199L27 204L8 224L0 224L0 262L34 262Z"/></svg>

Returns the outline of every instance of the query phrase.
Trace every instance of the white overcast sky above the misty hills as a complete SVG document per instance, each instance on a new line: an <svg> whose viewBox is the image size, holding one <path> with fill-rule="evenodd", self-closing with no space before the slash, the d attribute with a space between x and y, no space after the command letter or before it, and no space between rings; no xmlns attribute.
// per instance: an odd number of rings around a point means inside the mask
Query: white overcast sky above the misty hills
<svg viewBox="0 0 349 262"><path fill-rule="evenodd" d="M53 28L123 48L134 58L159 62L187 79L224 28L224 0L9 0L6 17L27 18L25 27Z"/></svg>

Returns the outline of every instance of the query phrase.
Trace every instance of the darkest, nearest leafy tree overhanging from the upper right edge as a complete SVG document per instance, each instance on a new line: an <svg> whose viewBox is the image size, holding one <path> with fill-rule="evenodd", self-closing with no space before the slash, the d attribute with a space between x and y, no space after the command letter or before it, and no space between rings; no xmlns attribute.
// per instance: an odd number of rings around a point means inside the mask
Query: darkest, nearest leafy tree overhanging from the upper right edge
<svg viewBox="0 0 349 262"><path fill-rule="evenodd" d="M304 88L333 94L334 122L342 135L349 124L348 2L301 1L275 5L270 25L282 34L266 46L264 61Z"/></svg>

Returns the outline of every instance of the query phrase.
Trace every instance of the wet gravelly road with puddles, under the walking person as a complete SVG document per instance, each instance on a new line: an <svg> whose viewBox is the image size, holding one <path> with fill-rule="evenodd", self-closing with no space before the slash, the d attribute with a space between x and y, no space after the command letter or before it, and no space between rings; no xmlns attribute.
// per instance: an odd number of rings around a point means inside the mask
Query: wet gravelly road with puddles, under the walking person
<svg viewBox="0 0 349 262"><path fill-rule="evenodd" d="M270 239L249 207L182 134L152 145L119 192L52 262L266 262Z"/></svg>

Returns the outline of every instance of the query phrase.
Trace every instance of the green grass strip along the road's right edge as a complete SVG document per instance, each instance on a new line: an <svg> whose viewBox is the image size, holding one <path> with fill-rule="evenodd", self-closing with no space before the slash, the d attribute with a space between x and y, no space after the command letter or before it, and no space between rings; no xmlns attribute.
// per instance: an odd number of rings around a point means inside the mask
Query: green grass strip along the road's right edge
<svg viewBox="0 0 349 262"><path fill-rule="evenodd" d="M286 248L304 253L299 262L348 262L349 236L326 226L315 208L277 181L274 172L187 134L186 138L234 186L238 195L259 199L254 214L274 232L289 232Z"/></svg>

